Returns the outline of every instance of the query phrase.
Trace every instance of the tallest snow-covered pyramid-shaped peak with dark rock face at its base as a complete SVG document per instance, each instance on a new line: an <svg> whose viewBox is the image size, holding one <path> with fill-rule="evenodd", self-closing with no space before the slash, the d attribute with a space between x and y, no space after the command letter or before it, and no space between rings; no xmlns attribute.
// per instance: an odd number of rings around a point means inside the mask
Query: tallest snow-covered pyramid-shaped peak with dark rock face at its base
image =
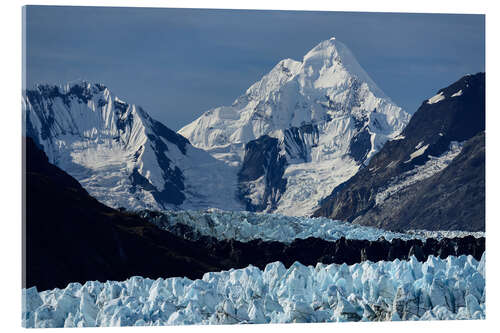
<svg viewBox="0 0 500 333"><path fill-rule="evenodd" d="M240 168L248 210L309 215L409 118L332 38L301 62L280 61L233 105L208 110L178 133ZM269 151L255 158L263 146ZM280 172L270 177L276 165ZM259 172L241 177L247 170Z"/></svg>

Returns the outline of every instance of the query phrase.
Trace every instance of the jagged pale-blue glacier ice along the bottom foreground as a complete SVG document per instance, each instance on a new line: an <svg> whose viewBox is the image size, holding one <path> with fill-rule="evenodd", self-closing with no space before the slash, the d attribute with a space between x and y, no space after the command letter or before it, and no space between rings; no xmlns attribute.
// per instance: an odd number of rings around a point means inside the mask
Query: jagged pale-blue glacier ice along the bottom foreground
<svg viewBox="0 0 500 333"><path fill-rule="evenodd" d="M206 273L23 289L24 327L485 318L485 255Z"/></svg>

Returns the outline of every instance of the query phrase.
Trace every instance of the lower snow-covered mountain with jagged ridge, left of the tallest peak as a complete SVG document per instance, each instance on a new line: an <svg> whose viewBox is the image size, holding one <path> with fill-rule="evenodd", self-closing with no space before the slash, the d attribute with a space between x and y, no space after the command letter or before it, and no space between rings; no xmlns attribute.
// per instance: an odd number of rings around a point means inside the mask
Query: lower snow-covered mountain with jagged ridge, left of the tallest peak
<svg viewBox="0 0 500 333"><path fill-rule="evenodd" d="M241 208L237 169L104 85L39 85L25 92L23 112L26 135L49 161L111 207Z"/></svg>

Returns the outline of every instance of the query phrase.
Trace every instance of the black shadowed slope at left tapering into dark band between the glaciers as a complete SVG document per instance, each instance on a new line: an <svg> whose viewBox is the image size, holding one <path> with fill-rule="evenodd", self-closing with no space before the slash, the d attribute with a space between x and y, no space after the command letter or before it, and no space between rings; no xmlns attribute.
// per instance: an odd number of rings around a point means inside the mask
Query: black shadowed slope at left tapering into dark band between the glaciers
<svg viewBox="0 0 500 333"><path fill-rule="evenodd" d="M33 140L26 139L26 235L23 239L23 287L63 288L70 282L186 276L246 267L263 268L272 261L314 265L353 264L363 260L406 259L415 255L472 254L479 259L484 238L444 239L440 242L309 238L291 244L217 241L159 229L138 215L111 209L92 198L81 185L50 164Z"/></svg>

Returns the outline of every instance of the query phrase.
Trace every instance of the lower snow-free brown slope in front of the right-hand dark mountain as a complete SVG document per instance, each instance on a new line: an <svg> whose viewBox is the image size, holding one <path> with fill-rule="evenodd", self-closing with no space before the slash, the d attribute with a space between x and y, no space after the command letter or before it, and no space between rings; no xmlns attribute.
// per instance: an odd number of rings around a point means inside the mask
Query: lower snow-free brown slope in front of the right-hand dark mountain
<svg viewBox="0 0 500 333"><path fill-rule="evenodd" d="M354 223L384 229L484 231L484 132L468 140L451 164L400 190Z"/></svg>

